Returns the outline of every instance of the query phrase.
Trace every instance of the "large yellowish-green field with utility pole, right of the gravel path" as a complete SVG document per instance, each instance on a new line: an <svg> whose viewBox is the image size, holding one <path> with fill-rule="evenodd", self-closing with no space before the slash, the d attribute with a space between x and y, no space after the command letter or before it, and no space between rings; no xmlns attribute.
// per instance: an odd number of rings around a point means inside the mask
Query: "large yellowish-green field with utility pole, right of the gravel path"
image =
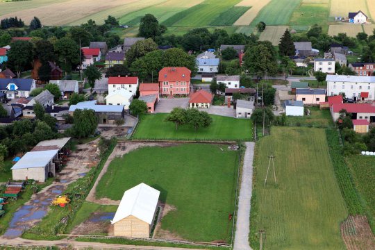
<svg viewBox="0 0 375 250"><path fill-rule="evenodd" d="M263 185L270 154L276 187L272 169ZM254 173L252 231L265 231L265 249L344 249L340 222L347 208L323 129L273 127L257 145Z"/></svg>

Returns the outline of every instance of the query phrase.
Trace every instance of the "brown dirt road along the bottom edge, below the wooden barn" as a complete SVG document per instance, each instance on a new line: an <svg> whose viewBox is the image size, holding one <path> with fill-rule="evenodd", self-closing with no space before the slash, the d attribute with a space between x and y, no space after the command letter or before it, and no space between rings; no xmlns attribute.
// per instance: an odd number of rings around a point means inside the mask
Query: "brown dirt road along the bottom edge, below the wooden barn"
<svg viewBox="0 0 375 250"><path fill-rule="evenodd" d="M74 240L26 240L22 238L15 238L15 239L3 239L0 238L0 246L15 246L20 247L22 245L26 245L28 247L60 247L60 248L67 248L69 246L74 247L74 249L160 249L160 250L186 250L185 248L178 248L178 247L152 247L152 246L134 246L134 245L126 245L126 244L106 244L106 243L99 243L99 242L76 242ZM198 250L198 249L192 249Z"/></svg>

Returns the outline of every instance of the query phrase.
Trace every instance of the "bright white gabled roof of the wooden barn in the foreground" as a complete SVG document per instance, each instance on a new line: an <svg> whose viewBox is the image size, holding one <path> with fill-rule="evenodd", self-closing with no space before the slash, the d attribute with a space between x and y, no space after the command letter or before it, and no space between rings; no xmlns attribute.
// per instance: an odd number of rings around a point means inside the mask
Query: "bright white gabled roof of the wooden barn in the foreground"
<svg viewBox="0 0 375 250"><path fill-rule="evenodd" d="M149 185L140 183L130 190L126 190L117 208L111 224L133 215L138 219L152 224L153 215L158 205L160 191Z"/></svg>

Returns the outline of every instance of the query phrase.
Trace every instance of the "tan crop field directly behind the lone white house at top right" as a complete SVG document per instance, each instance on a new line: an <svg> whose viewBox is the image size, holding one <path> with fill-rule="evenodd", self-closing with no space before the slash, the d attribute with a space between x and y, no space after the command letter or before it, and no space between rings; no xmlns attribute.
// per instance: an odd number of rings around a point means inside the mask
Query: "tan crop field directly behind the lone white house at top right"
<svg viewBox="0 0 375 250"><path fill-rule="evenodd" d="M357 12L358 10L362 10L369 16L366 0L331 0L329 15L330 17L348 17L349 12Z"/></svg>

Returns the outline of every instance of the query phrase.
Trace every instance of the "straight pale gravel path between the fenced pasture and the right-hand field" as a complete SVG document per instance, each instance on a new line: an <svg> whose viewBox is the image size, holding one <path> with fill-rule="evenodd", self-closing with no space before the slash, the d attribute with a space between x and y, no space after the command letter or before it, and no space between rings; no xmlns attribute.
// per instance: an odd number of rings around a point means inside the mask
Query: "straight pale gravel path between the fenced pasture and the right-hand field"
<svg viewBox="0 0 375 250"><path fill-rule="evenodd" d="M245 142L244 167L240 197L238 198L238 214L235 224L234 250L251 250L249 245L251 194L253 192L253 158L254 142Z"/></svg>

